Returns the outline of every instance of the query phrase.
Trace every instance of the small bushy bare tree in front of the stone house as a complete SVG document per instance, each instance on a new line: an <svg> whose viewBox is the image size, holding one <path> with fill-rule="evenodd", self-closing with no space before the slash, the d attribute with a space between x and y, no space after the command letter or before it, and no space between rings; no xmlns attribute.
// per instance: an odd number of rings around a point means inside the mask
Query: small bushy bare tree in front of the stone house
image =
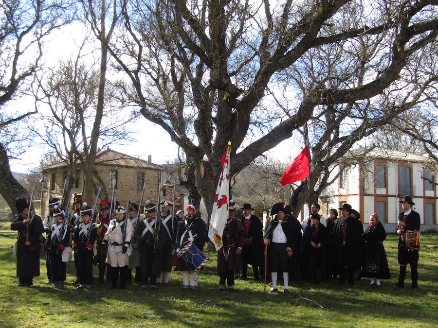
<svg viewBox="0 0 438 328"><path fill-rule="evenodd" d="M77 173L83 172L87 176L93 138L90 122L96 124L95 117L99 115L96 108L99 106L100 71L93 69L90 55L82 55L86 41L87 38L84 38L76 58L61 60L57 68L38 76L38 87L35 90L40 113L36 121L42 124L32 129L44 145L48 145L56 154L58 162L66 164L67 189L73 188ZM126 128L131 116L117 105L113 93L113 87L107 85L104 89L106 106L99 123L98 140L101 148L131 140L131 131ZM118 115L114 115L114 112ZM108 198L106 181L94 167L92 173L102 188L102 197Z"/></svg>

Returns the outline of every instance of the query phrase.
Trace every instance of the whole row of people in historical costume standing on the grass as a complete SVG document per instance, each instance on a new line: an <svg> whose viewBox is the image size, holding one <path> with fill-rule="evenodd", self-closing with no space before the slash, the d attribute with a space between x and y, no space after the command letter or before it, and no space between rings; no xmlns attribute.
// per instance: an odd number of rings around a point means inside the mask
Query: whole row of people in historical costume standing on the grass
<svg viewBox="0 0 438 328"><path fill-rule="evenodd" d="M402 201L404 212L399 216L399 263L400 276L396 287L404 286L406 265L411 266L412 285L417 288L418 251L406 250L405 230L420 229L420 216L412 209L412 198ZM17 276L18 285L32 285L34 276L39 276L40 236L46 232L46 268L49 281L55 288L63 288L66 280L66 262L72 259L76 267L78 289L89 289L93 284L93 265L99 268L98 283L111 282L111 288L125 289L126 282L135 281L142 288L156 289L158 284L168 284L173 265L182 272L183 290L194 290L198 286L198 272L191 270L177 255L188 243L193 243L202 252L208 242L207 227L201 212L193 205L176 213L169 210L163 201L157 207L149 201L144 206L145 214L139 215L139 206L128 203L128 208L114 202L115 218L110 218L111 204L102 200L100 214L84 203L81 195L74 194L73 216L66 216L60 200L49 199L49 215L41 220L37 215L29 218L29 204L25 199L16 203L18 216L11 229L18 230ZM276 203L271 209L273 219L263 235L261 221L252 214L251 204L244 204L243 215L235 218L236 204L229 203L229 217L222 234L223 246L218 251L219 291L233 290L235 274L241 271L240 279L247 279L248 265L252 265L254 278L268 276L272 280L271 292L277 292L277 280L282 277L284 292L288 292L289 279L307 278L321 282L340 276L340 283L354 284L355 274L362 268L362 276L389 278L384 276L384 263L376 264L375 254L365 251L367 243L382 245L386 236L379 226L377 214L372 215L370 227L363 231L359 213L344 204L340 210L330 209L325 224L317 213L319 206L312 205L309 220L302 224L291 214L291 207ZM158 215L157 215L158 210ZM67 224L63 220L70 219ZM381 225L381 224L380 224ZM303 235L301 230L304 230ZM365 240L365 243L364 243ZM73 247L72 247L73 246ZM375 249L375 247L371 247ZM384 250L383 250L384 253ZM265 262L263 261L265 254ZM372 256L369 256L369 255ZM380 257L382 253L379 253ZM181 255L181 254L180 254ZM386 258L384 259L386 260ZM387 262L386 262L387 267ZM378 269L376 269L378 268ZM279 275L281 273L281 275Z"/></svg>

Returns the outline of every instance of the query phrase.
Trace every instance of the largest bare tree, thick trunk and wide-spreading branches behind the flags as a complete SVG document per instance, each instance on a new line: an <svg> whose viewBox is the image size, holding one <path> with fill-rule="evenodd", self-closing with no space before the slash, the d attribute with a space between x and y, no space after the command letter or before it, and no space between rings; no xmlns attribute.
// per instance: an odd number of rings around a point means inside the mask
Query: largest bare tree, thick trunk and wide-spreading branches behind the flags
<svg viewBox="0 0 438 328"><path fill-rule="evenodd" d="M415 70L436 47L432 0L155 0L123 12L109 45L129 79L119 86L193 160L209 211L228 140L235 175L306 122L321 126L310 140L312 174L325 174L319 187L310 181L317 197L329 182L321 161L339 160L436 83L436 70ZM297 208L306 194L293 195Z"/></svg>

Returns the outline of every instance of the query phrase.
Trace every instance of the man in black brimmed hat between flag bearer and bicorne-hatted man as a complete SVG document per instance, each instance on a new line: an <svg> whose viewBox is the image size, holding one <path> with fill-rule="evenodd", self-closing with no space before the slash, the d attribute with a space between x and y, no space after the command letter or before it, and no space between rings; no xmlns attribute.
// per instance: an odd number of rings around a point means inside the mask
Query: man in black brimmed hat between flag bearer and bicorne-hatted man
<svg viewBox="0 0 438 328"><path fill-rule="evenodd" d="M263 224L251 211L254 209L251 204L243 204L241 207L243 215L240 222L245 228L245 239L242 249L242 276L240 279L247 279L248 264L251 264L254 272L254 279L258 280L258 265L262 256Z"/></svg>

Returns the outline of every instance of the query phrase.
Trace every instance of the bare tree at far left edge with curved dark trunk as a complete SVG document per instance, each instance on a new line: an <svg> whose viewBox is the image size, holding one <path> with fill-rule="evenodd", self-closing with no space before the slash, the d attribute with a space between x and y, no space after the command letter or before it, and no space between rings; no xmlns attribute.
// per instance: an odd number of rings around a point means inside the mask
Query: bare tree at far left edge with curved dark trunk
<svg viewBox="0 0 438 328"><path fill-rule="evenodd" d="M43 40L65 24L69 3L52 0L2 0L0 2L0 193L15 210L15 200L27 191L13 177L9 157L27 135L19 129L33 110L9 110L6 104L26 91L41 66ZM15 125L12 125L14 124ZM25 144L22 145L25 148ZM23 147L19 147L23 149Z"/></svg>

